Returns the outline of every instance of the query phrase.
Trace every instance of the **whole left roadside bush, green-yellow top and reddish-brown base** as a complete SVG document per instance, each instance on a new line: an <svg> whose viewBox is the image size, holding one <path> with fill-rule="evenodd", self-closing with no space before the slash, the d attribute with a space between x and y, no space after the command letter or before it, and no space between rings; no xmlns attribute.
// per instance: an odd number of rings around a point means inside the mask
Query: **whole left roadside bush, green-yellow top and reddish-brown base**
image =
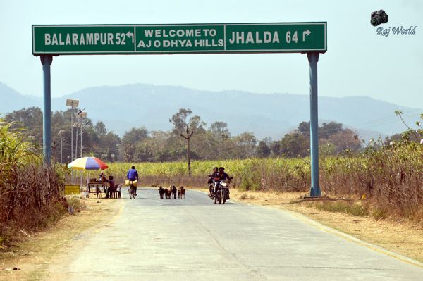
<svg viewBox="0 0 423 281"><path fill-rule="evenodd" d="M55 223L66 212L59 194L63 179L56 173L56 167L43 166L37 147L12 125L0 118L0 237L3 241Z"/></svg>

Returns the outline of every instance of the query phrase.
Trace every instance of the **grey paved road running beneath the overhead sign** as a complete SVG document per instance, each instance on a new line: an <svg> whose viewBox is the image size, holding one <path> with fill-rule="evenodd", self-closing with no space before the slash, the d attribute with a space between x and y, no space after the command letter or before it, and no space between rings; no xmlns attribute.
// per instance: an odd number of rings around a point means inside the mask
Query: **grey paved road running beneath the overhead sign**
<svg viewBox="0 0 423 281"><path fill-rule="evenodd" d="M125 196L126 196L126 192ZM422 280L423 268L286 211L212 204L202 192L160 200L142 189L113 222L83 237L54 280ZM82 244L82 243L79 243Z"/></svg>

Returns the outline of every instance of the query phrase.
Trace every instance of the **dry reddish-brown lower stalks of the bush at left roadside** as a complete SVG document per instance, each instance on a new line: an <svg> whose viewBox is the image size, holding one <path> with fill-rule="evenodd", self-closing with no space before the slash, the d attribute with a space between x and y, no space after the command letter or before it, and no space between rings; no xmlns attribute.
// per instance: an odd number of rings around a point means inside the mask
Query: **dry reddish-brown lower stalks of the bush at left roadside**
<svg viewBox="0 0 423 281"><path fill-rule="evenodd" d="M20 230L39 230L66 212L54 168L11 166L0 173L0 236L13 239Z"/></svg>

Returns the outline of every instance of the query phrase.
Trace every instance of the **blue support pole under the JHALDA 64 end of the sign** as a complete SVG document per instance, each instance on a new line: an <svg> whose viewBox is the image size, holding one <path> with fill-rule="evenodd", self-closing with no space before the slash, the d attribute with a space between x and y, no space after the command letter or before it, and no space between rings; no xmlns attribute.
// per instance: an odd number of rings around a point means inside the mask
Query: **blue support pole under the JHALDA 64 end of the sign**
<svg viewBox="0 0 423 281"><path fill-rule="evenodd" d="M307 53L310 64L310 154L312 160L312 186L310 196L319 197L319 119L317 111L317 62L319 53Z"/></svg>

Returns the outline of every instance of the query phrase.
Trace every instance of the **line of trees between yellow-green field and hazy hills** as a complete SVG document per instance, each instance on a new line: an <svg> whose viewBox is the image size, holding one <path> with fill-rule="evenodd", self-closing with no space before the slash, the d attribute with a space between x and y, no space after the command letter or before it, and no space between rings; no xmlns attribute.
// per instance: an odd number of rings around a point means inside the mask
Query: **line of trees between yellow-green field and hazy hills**
<svg viewBox="0 0 423 281"><path fill-rule="evenodd" d="M77 109L78 111L78 109ZM15 127L25 127L26 137L39 148L42 146L42 111L37 107L23 108L8 113L4 118ZM74 118L78 122L78 118ZM190 157L198 160L243 159L251 157L304 157L309 155L309 122L298 127L279 140L266 137L258 140L253 132L231 135L228 124L216 121L207 125L200 115L192 114L189 108L180 108L169 122L172 129L147 130L133 127L119 137L109 131L102 121L92 123L85 118L82 123L82 155L97 156L106 161L165 162L186 158L187 142L181 137L192 132ZM62 133L59 132L62 130ZM73 129L74 152L78 136L80 156L80 127ZM55 161L68 163L71 160L71 109L55 111L51 115L52 156ZM353 130L343 124L330 122L319 127L319 151L322 155L338 155L345 151L358 151L361 142ZM75 153L74 153L75 154Z"/></svg>

